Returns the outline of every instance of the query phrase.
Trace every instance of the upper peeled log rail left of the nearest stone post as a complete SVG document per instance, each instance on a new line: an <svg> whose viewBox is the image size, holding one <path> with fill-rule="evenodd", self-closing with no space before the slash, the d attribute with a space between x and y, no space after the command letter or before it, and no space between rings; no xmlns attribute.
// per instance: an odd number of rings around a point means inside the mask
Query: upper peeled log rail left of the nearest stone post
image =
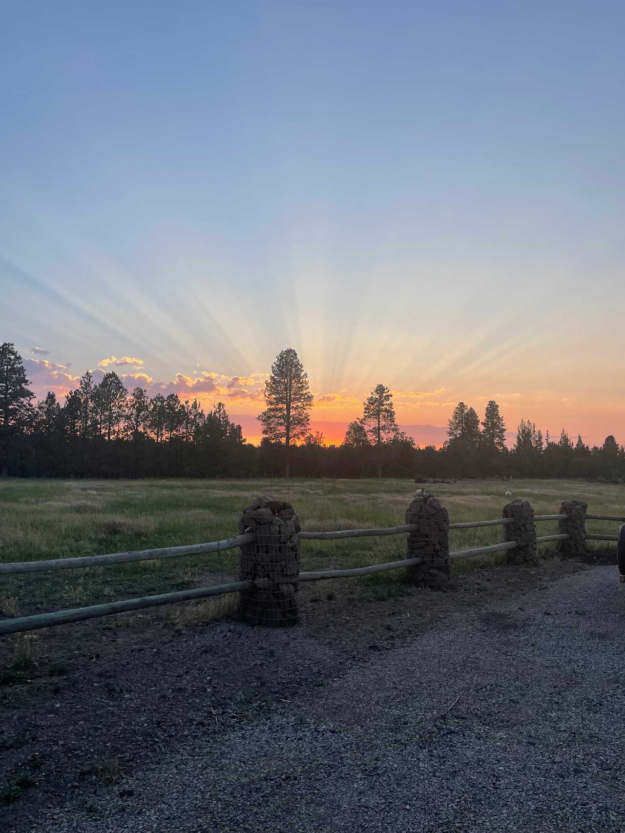
<svg viewBox="0 0 625 833"><path fill-rule="evenodd" d="M211 541L208 544L190 544L188 546L165 546L160 550L135 550L132 552L112 552L107 556L77 556L76 558L55 558L51 561L13 561L0 564L2 573L38 572L42 570L74 570L77 567L97 567L101 564L122 564L128 561L150 561L153 558L178 558L178 556L198 556L203 552L223 552L233 550L242 544L254 540L251 533L223 541Z"/></svg>

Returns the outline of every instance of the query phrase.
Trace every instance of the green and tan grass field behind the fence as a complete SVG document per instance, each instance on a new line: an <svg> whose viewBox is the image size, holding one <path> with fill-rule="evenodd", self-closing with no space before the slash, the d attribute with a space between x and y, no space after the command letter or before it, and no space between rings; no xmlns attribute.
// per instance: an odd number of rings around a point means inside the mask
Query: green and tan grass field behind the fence
<svg viewBox="0 0 625 833"><path fill-rule="evenodd" d="M238 516L258 494L291 501L306 531L330 531L404 522L415 485L407 480L293 481L0 481L0 562L68 556L215 541L238 533ZM532 503L536 514L559 510L562 499L588 502L595 514L622 514L625 487L586 481L464 481L433 486L447 506L450 520L498 518L505 492ZM615 533L617 525L589 521L588 531ZM539 535L557 531L542 522ZM452 531L452 550L502 541L502 529ZM613 545L607 545L613 546ZM549 547L549 549L547 549ZM592 543L589 542L589 548ZM606 549L602 544L601 548ZM542 552L554 551L542 545ZM367 566L403 557L404 536L346 541L303 541L302 568ZM502 561L482 556L458 561L454 571L471 571ZM183 556L164 561L6 576L0 582L0 611L28 615L97 604L103 601L202 586L237 576L238 550ZM382 573L361 584L392 591L399 572Z"/></svg>

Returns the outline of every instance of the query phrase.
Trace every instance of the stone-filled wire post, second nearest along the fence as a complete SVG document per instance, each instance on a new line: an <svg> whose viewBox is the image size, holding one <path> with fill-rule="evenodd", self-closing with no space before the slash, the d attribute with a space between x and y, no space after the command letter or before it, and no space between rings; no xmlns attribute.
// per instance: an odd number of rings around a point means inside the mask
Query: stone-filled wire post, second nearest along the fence
<svg viewBox="0 0 625 833"><path fill-rule="evenodd" d="M419 490L423 491L423 490ZM406 510L406 523L417 524L408 532L408 558L423 558L407 567L407 578L420 587L447 590L451 576L449 560L449 515L441 501L431 494L416 494Z"/></svg>

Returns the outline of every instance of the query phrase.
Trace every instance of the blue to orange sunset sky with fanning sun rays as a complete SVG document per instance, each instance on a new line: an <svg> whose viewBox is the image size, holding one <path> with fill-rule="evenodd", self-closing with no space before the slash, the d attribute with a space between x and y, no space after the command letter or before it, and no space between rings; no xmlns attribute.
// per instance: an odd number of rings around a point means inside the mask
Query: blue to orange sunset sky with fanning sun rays
<svg viewBox="0 0 625 833"><path fill-rule="evenodd" d="M625 442L622 2L12 3L0 341L253 419L297 350L340 441L382 382Z"/></svg>

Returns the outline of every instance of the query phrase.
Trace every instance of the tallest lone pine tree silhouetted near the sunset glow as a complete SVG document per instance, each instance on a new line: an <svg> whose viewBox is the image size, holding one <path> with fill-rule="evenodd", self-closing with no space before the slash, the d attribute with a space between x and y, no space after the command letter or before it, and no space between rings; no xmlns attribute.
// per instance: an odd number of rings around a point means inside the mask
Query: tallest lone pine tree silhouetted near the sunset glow
<svg viewBox="0 0 625 833"><path fill-rule="evenodd" d="M291 444L308 433L313 406L308 373L291 348L278 353L273 362L271 376L265 382L265 405L258 421L269 441L284 444L284 476L288 477Z"/></svg>

